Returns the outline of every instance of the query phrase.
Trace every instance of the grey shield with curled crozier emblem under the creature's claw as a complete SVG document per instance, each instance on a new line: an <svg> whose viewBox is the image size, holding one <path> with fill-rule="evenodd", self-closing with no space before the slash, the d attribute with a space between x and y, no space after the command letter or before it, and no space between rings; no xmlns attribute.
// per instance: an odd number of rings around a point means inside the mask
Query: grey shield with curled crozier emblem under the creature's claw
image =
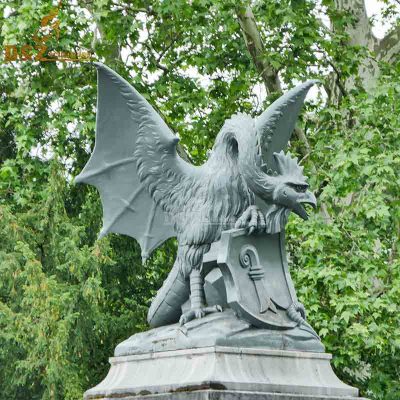
<svg viewBox="0 0 400 400"><path fill-rule="evenodd" d="M240 318L259 328L302 326L317 336L297 301L284 233L248 236L243 229L233 229L223 232L215 245L210 251L215 256L210 254L207 259L214 258L220 268L227 303Z"/></svg>

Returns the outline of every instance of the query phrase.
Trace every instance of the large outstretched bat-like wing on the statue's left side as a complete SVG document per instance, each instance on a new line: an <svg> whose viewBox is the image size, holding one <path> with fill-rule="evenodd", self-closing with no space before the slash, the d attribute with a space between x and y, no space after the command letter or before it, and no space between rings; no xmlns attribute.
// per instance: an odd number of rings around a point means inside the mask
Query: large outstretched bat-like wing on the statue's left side
<svg viewBox="0 0 400 400"><path fill-rule="evenodd" d="M103 205L100 237L109 232L129 235L139 242L146 259L175 236L161 203L168 189L188 179L194 167L178 156L178 138L151 105L113 70L95 65L96 143L75 181L99 190Z"/></svg>

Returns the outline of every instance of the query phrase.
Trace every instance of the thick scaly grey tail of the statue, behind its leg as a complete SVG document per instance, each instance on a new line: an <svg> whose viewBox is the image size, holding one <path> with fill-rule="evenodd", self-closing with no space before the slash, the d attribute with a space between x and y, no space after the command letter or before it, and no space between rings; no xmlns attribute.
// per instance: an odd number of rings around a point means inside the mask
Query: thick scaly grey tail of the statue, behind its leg
<svg viewBox="0 0 400 400"><path fill-rule="evenodd" d="M182 314L181 306L189 298L189 280L183 273L179 257L161 289L151 303L147 322L152 328L174 324Z"/></svg>

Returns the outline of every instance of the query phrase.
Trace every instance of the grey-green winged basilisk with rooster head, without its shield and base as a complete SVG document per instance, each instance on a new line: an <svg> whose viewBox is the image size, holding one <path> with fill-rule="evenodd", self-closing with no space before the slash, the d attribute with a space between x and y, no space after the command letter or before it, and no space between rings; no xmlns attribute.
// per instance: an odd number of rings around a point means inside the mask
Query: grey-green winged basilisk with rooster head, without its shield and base
<svg viewBox="0 0 400 400"><path fill-rule="evenodd" d="M290 211L307 219L316 206L297 159L284 154L305 96L315 81L291 89L257 119L233 115L201 166L184 161L179 139L128 82L100 63L96 143L76 178L95 186L103 204L100 237L116 232L140 243L143 259L177 237L172 270L148 313L157 327L221 311L207 307L203 255L221 232L280 232ZM181 306L190 297L191 308Z"/></svg>

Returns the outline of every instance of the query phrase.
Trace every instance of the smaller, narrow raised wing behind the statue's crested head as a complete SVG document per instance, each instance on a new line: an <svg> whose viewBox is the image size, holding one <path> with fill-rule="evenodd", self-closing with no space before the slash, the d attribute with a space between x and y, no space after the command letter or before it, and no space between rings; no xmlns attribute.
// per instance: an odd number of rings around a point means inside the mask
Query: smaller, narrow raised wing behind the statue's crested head
<svg viewBox="0 0 400 400"><path fill-rule="evenodd" d="M318 81L304 82L279 97L256 120L260 151L268 169L276 171L274 153L285 150L296 125L304 99Z"/></svg>

